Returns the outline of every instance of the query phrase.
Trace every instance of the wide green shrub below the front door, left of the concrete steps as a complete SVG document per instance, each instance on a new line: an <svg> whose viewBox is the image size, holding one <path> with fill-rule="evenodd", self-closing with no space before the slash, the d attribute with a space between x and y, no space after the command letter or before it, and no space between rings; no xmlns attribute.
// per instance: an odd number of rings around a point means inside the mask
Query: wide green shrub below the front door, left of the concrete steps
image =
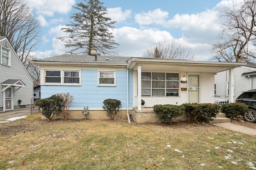
<svg viewBox="0 0 256 170"><path fill-rule="evenodd" d="M218 104L182 104L188 113L188 122L206 122L209 123L219 113Z"/></svg>

